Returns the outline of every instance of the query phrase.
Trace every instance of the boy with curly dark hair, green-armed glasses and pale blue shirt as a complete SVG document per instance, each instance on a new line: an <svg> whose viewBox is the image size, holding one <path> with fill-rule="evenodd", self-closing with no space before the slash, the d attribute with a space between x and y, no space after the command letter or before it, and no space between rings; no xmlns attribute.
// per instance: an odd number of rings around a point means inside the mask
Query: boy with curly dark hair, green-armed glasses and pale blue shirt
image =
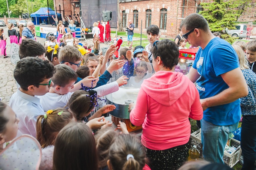
<svg viewBox="0 0 256 170"><path fill-rule="evenodd" d="M36 136L36 120L39 115L44 115L44 110L40 99L35 96L42 96L50 90L53 73L55 68L47 60L26 57L17 63L14 78L20 88L12 95L9 106L20 119L21 134Z"/></svg>

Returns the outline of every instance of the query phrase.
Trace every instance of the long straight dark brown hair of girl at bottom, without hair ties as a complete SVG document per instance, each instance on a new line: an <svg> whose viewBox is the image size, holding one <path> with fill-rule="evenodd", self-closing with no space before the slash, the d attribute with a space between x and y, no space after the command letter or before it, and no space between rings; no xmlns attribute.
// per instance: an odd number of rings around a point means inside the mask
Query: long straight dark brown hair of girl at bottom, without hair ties
<svg viewBox="0 0 256 170"><path fill-rule="evenodd" d="M98 170L92 130L84 123L71 122L57 135L53 151L53 170Z"/></svg>

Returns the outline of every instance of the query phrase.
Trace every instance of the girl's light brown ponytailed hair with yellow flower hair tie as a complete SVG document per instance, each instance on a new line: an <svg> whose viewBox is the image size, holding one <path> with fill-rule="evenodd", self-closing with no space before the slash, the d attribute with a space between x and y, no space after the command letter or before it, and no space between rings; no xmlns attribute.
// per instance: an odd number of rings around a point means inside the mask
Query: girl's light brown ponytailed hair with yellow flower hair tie
<svg viewBox="0 0 256 170"><path fill-rule="evenodd" d="M61 115L58 115L62 112ZM66 109L55 109L47 118L40 115L36 121L36 139L42 148L54 145L55 139L59 131L66 126L74 116Z"/></svg>

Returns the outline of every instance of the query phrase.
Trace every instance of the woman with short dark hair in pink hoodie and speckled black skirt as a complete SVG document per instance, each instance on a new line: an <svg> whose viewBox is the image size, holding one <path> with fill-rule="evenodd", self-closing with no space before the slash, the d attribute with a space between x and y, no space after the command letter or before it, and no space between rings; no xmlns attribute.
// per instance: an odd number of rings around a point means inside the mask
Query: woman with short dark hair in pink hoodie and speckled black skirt
<svg viewBox="0 0 256 170"><path fill-rule="evenodd" d="M150 168L178 169L187 160L188 118L202 119L203 108L195 85L174 72L177 44L167 39L156 41L151 52L156 73L142 83L137 104L130 104L130 121L142 124L141 142L147 148Z"/></svg>

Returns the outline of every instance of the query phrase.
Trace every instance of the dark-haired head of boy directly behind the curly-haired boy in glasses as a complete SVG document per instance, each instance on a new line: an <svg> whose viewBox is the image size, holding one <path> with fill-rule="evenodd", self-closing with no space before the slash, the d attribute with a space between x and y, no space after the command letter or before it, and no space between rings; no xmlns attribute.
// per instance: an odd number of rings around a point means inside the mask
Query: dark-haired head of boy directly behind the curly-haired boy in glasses
<svg viewBox="0 0 256 170"><path fill-rule="evenodd" d="M24 39L20 44L19 56L20 59L25 57L38 57L45 60L46 50L44 46L35 40Z"/></svg>

